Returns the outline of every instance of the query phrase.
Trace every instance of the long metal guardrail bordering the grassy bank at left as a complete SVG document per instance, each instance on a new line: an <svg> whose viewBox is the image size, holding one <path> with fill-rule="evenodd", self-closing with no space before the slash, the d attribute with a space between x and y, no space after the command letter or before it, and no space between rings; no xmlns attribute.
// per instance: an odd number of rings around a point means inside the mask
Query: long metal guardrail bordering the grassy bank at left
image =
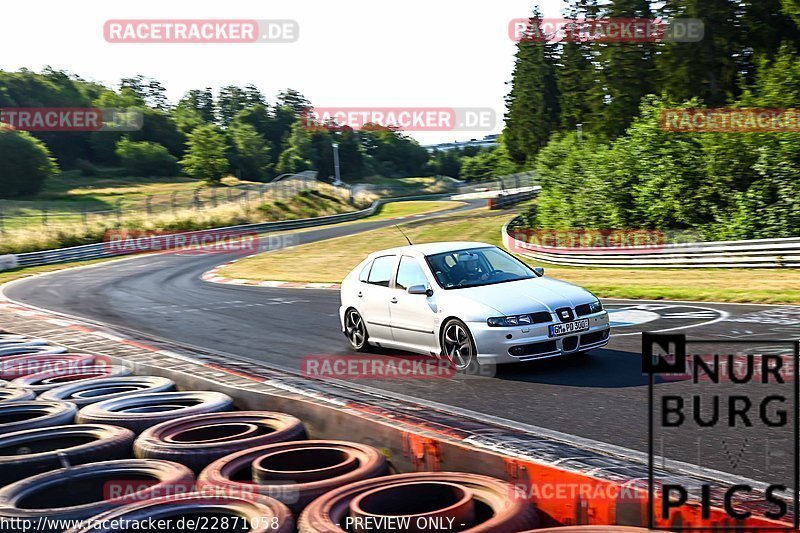
<svg viewBox="0 0 800 533"><path fill-rule="evenodd" d="M239 235L247 235L252 233L265 233L268 231L282 231L291 229L300 229L313 226L324 226L327 224L336 224L339 222L349 222L358 220L360 218L374 214L381 205L407 200L421 200L421 199L435 199L449 194L426 194L419 196L405 196L400 198L388 198L375 200L372 205L360 211L352 211L349 213L340 213L337 215L327 215L314 218L303 218L298 220L285 220L276 222L260 222L255 224L242 224L238 226L226 226L222 228L212 228L199 231L181 232L180 235L186 236L187 240L191 240L192 236L213 236L224 234L228 237ZM177 235L173 234L173 235ZM135 249L142 245L141 249L152 242L152 237L139 237L131 239L131 243ZM88 259L102 259L106 257L116 257L131 255L130 252L125 253L116 247L109 246L108 243L99 242L94 244L85 244L82 246L72 246L69 248L59 248L55 250L44 250L40 252L28 252L22 254L13 254L0 256L0 271L9 270L11 268L49 265L54 263L66 263L71 261L85 261Z"/></svg>

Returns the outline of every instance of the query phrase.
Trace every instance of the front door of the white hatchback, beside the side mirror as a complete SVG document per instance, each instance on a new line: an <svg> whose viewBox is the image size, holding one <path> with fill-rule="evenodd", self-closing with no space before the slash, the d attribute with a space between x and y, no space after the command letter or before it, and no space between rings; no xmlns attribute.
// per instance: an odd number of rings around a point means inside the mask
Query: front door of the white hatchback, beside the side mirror
<svg viewBox="0 0 800 533"><path fill-rule="evenodd" d="M414 285L430 287L419 260L404 255L397 267L389 306L392 335L396 343L415 351L434 352L436 351L435 296L409 294L408 288Z"/></svg>

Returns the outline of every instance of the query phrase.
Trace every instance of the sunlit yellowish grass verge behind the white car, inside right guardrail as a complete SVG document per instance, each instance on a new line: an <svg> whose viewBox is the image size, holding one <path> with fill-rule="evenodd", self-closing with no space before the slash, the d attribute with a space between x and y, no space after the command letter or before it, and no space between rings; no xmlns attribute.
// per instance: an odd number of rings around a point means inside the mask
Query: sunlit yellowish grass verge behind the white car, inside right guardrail
<svg viewBox="0 0 800 533"><path fill-rule="evenodd" d="M412 241L476 240L500 245L513 215L465 213L403 225ZM224 267L230 278L336 283L368 253L403 245L394 228L374 230L251 257ZM531 261L527 261L533 264ZM544 265L548 276L604 298L800 304L798 269L607 269Z"/></svg>

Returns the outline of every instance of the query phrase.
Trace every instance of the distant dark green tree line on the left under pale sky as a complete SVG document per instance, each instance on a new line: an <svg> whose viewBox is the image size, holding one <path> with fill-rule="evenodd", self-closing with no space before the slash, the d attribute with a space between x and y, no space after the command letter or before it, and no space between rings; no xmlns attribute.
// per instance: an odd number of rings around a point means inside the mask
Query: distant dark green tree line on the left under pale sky
<svg viewBox="0 0 800 533"><path fill-rule="evenodd" d="M333 143L338 144L342 175L406 177L446 174L459 177L461 162L477 151L431 154L392 127L305 123L312 106L287 89L267 102L253 86L191 90L177 104L155 79L122 79L118 90L51 68L42 72L0 71L0 108L118 108L142 114L136 131L30 132L0 127L0 197L35 194L59 169L84 175L109 169L133 176L185 174L218 181L227 174L269 181L285 173L315 170L334 174ZM455 165L448 162L455 161ZM470 177L469 175L467 177Z"/></svg>

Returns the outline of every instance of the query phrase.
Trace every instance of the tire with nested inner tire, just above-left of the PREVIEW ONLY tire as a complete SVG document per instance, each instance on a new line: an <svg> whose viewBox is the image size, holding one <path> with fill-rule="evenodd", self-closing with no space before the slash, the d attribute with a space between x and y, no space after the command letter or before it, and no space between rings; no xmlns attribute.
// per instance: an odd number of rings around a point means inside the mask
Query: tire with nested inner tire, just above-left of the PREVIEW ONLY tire
<svg viewBox="0 0 800 533"><path fill-rule="evenodd" d="M198 490L257 492L299 512L326 492L388 472L386 457L365 444L333 440L283 442L243 450L200 473Z"/></svg>

